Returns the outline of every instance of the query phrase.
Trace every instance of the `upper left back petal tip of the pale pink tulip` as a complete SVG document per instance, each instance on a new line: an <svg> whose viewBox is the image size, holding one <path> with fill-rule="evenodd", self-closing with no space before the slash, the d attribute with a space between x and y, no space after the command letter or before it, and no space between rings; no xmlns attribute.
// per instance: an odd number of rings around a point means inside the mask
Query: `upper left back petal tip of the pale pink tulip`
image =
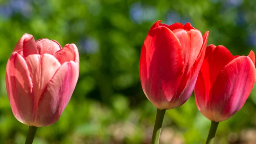
<svg viewBox="0 0 256 144"><path fill-rule="evenodd" d="M17 52L23 57L27 57L30 54L38 54L38 49L34 37L31 34L23 34L21 39L16 44L13 52Z"/></svg>

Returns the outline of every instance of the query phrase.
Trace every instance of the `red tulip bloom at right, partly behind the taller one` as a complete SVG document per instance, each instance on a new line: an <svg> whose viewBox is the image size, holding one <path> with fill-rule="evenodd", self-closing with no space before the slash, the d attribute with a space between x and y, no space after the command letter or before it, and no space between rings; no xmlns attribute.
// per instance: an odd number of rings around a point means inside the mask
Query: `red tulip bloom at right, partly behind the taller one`
<svg viewBox="0 0 256 144"><path fill-rule="evenodd" d="M209 45L195 86L198 110L210 121L233 117L250 95L255 80L253 51L248 56L233 56L224 46Z"/></svg>

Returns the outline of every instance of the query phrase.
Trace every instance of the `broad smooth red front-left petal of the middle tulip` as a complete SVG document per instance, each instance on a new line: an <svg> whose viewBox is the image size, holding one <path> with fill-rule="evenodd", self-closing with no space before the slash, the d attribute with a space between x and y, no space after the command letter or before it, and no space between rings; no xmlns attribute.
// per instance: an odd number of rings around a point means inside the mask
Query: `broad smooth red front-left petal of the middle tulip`
<svg viewBox="0 0 256 144"><path fill-rule="evenodd" d="M157 108L165 108L174 96L183 66L182 47L174 33L165 26L150 28L140 55L140 80Z"/></svg>

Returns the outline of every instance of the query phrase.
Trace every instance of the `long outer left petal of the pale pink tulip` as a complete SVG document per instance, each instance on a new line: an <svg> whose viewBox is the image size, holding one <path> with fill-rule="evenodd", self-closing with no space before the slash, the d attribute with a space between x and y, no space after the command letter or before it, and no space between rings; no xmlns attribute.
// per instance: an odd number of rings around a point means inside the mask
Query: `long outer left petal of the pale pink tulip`
<svg viewBox="0 0 256 144"><path fill-rule="evenodd" d="M24 58L12 53L6 66L7 95L15 118L30 125L32 116L32 82Z"/></svg>

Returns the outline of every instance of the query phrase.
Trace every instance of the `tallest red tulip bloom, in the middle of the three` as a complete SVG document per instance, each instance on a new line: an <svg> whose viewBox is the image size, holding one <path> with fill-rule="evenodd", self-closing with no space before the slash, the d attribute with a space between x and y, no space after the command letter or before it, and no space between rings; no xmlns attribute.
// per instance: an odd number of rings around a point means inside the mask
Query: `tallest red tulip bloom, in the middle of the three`
<svg viewBox="0 0 256 144"><path fill-rule="evenodd" d="M190 97L203 62L208 40L186 23L166 25L157 21L150 28L140 55L142 89L153 105L172 109Z"/></svg>

